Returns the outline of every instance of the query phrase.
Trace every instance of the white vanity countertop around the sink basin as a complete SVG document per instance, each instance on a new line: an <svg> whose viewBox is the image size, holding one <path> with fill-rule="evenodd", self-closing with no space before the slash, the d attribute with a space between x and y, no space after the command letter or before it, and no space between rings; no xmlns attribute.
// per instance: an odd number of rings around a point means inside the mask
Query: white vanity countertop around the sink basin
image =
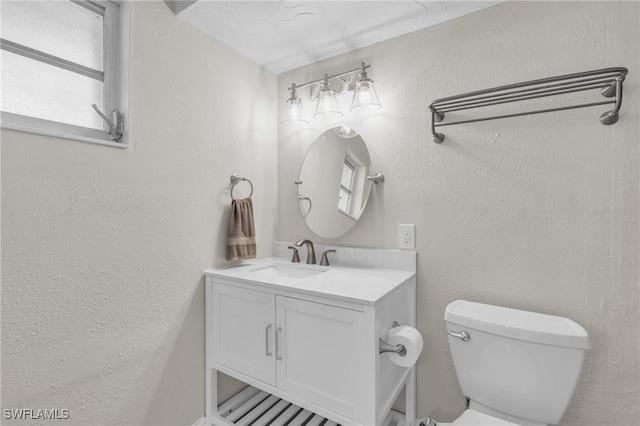
<svg viewBox="0 0 640 426"><path fill-rule="evenodd" d="M287 278L255 272L269 265L292 266L300 269L323 270L306 278ZM274 289L295 291L332 299L376 305L386 295L413 277L413 272L371 267L319 266L291 263L287 259L271 257L226 269L210 269L205 275L240 280Z"/></svg>

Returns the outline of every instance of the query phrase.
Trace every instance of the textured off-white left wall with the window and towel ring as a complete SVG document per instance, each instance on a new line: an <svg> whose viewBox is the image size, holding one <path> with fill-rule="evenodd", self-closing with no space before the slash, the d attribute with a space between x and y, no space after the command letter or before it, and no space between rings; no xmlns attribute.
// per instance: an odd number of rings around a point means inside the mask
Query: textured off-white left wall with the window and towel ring
<svg viewBox="0 0 640 426"><path fill-rule="evenodd" d="M255 186L259 256L274 240L275 75L132 9L129 149L2 131L1 405L58 424L193 424L230 174Z"/></svg>

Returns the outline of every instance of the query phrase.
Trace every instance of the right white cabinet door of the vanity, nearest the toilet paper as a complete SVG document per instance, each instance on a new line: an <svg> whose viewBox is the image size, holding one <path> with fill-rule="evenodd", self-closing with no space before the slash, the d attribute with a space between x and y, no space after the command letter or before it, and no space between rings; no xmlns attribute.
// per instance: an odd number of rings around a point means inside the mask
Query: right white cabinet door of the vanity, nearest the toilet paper
<svg viewBox="0 0 640 426"><path fill-rule="evenodd" d="M278 388L349 418L362 392L363 314L276 298Z"/></svg>

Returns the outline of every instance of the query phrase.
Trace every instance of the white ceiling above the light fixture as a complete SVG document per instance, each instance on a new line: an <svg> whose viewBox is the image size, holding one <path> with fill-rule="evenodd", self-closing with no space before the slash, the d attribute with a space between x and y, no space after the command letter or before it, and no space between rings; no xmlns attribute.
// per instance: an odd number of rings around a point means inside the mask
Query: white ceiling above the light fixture
<svg viewBox="0 0 640 426"><path fill-rule="evenodd" d="M175 0L174 11L280 74L500 2Z"/></svg>

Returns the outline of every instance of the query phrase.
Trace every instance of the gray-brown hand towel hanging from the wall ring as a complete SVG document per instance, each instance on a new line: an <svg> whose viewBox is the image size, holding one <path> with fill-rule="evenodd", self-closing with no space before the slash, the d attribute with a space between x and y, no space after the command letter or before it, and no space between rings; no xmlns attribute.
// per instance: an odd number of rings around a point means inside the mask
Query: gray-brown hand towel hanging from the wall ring
<svg viewBox="0 0 640 426"><path fill-rule="evenodd" d="M227 231L227 260L255 259L256 229L251 198L233 200Z"/></svg>

